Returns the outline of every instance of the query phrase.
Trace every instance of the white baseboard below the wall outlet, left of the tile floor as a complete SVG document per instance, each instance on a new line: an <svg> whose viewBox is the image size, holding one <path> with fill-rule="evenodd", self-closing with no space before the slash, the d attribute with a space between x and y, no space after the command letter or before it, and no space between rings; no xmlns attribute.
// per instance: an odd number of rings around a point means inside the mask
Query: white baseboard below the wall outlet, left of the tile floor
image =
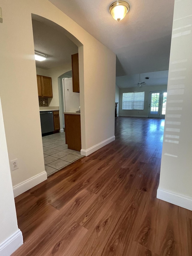
<svg viewBox="0 0 192 256"><path fill-rule="evenodd" d="M47 179L47 173L46 171L33 176L30 179L27 179L21 183L19 183L16 186L13 186L13 194L14 197L17 197L18 195L24 193L25 191L29 190L30 188L35 187L39 183L45 181Z"/></svg>

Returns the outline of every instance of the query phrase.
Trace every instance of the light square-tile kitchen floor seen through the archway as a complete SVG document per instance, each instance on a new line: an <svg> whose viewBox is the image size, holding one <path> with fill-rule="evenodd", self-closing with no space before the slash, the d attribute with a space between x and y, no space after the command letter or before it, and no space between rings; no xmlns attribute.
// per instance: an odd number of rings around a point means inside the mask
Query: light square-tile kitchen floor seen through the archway
<svg viewBox="0 0 192 256"><path fill-rule="evenodd" d="M79 151L67 148L64 132L44 136L42 141L47 176L83 157Z"/></svg>

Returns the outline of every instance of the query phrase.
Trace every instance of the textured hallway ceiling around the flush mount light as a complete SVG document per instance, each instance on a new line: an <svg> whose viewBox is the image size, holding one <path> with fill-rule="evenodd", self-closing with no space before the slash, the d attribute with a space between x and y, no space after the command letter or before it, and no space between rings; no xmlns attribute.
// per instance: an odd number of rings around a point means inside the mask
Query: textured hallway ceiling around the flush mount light
<svg viewBox="0 0 192 256"><path fill-rule="evenodd" d="M168 70L174 0L128 0L119 22L110 0L49 1L116 53L117 76Z"/></svg>

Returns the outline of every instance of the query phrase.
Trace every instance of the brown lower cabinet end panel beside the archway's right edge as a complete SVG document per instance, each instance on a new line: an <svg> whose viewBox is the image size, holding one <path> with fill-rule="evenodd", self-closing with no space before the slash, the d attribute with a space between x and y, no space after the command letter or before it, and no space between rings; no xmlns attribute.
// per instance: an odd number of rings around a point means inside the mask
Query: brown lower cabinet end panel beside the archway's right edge
<svg viewBox="0 0 192 256"><path fill-rule="evenodd" d="M81 119L80 115L64 114L65 140L68 149L81 150Z"/></svg>

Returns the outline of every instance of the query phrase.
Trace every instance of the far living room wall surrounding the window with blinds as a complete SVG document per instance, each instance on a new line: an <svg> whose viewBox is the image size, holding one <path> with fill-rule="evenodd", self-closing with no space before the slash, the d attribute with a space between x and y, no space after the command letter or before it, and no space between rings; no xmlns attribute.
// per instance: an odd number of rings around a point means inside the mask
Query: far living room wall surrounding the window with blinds
<svg viewBox="0 0 192 256"><path fill-rule="evenodd" d="M119 90L119 116L140 116L148 117L149 111L149 92L151 91L167 91L167 85L164 86L142 86L142 87L132 87L123 88ZM145 92L144 99L144 110L122 110L122 98L124 92Z"/></svg>

